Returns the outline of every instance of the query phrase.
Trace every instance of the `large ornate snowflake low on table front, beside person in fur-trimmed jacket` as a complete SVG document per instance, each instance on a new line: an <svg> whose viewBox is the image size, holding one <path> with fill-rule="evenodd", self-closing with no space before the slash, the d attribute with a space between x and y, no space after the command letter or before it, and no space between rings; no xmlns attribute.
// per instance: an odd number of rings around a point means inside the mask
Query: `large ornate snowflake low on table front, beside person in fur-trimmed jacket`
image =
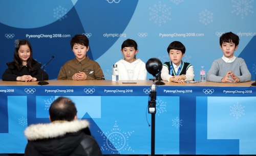
<svg viewBox="0 0 256 156"><path fill-rule="evenodd" d="M109 132L101 132L98 131L100 135L103 137L103 147L105 150L110 150L112 154L120 154L121 151L133 151L132 147L129 145L129 137L132 136L134 131L130 132L124 132L122 131L118 124L117 121L115 121L115 124L111 131ZM105 136L106 137L105 137Z"/></svg>

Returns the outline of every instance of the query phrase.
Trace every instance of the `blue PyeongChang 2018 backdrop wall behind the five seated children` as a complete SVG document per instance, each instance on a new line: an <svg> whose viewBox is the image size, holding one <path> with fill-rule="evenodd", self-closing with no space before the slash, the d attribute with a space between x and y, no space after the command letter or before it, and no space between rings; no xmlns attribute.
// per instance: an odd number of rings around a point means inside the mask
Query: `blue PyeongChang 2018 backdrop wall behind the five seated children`
<svg viewBox="0 0 256 156"><path fill-rule="evenodd" d="M195 80L199 70L222 57L219 37L233 32L240 37L238 50L255 80L256 14L253 0L56 0L0 1L0 73L11 62L15 39L28 39L34 59L56 79L60 67L74 58L70 40L84 34L90 40L90 59L97 61L106 77L111 78L112 65L123 56L121 44L127 38L137 41L137 58L169 61L167 46L175 40L186 46L183 61L194 66ZM151 77L148 74L147 79Z"/></svg>

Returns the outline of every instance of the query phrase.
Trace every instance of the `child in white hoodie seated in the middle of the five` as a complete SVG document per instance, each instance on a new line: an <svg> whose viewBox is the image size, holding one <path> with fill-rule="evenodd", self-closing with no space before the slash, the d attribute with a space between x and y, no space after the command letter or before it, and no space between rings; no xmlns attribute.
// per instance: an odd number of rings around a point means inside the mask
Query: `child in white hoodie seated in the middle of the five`
<svg viewBox="0 0 256 156"><path fill-rule="evenodd" d="M121 46L123 57L117 63L119 80L146 80L146 65L136 58L138 45L132 39L127 39Z"/></svg>

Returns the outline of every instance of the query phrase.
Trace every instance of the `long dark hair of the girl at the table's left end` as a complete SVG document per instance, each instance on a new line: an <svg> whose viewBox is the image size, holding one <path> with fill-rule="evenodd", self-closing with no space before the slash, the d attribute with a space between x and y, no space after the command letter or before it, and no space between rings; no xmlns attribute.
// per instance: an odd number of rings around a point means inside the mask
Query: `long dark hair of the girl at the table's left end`
<svg viewBox="0 0 256 156"><path fill-rule="evenodd" d="M14 55L13 55L13 65L16 66L18 70L22 69L23 61L18 56L18 50L19 50L20 45L26 45L26 44L29 46L29 49L30 49L30 57L27 60L27 69L29 72L32 72L32 71L35 71L34 64L37 63L37 61L35 61L33 59L32 46L28 40L23 39L23 40L19 40L18 43L16 43L16 45L15 45L16 47L15 47Z"/></svg>

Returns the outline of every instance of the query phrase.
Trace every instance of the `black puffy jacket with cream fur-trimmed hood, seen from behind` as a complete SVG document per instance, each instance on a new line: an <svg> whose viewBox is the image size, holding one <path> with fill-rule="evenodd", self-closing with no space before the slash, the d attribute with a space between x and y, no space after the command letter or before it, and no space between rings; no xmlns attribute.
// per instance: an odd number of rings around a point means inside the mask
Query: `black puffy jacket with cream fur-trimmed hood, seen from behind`
<svg viewBox="0 0 256 156"><path fill-rule="evenodd" d="M93 155L101 156L86 120L33 124L25 129L28 144L25 155Z"/></svg>

